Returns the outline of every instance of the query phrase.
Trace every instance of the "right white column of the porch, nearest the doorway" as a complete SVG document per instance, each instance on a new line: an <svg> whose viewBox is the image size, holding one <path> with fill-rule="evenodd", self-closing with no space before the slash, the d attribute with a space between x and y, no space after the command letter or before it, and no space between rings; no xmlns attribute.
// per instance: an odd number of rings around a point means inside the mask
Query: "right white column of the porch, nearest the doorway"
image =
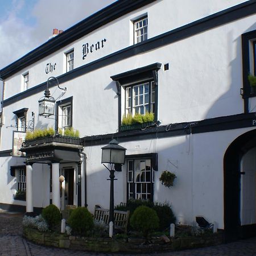
<svg viewBox="0 0 256 256"><path fill-rule="evenodd" d="M52 204L60 209L60 163L52 163Z"/></svg>

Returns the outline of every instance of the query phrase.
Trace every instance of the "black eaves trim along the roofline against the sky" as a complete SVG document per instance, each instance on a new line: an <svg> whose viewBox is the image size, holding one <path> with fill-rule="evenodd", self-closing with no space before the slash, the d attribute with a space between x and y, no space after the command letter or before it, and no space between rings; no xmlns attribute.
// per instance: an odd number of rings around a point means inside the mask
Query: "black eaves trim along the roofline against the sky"
<svg viewBox="0 0 256 256"><path fill-rule="evenodd" d="M0 71L0 77L6 79L21 69L35 63L36 61L43 59L53 52L67 46L75 40L89 34L105 24L112 22L113 20L137 10L145 5L148 5L156 0L119 0L112 5L105 7L97 13L89 16L81 22L75 24L71 28L68 28L63 33L57 35L55 38L48 40L38 48L27 53L19 60L8 65Z"/></svg>

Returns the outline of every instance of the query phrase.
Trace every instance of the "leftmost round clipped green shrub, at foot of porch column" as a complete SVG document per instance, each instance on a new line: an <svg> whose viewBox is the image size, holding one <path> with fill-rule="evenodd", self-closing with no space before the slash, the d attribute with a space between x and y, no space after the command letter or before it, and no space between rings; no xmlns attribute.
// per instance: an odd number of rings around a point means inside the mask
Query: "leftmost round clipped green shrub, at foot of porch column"
<svg viewBox="0 0 256 256"><path fill-rule="evenodd" d="M44 208L42 211L42 217L46 220L49 229L53 230L58 225L60 225L61 221L61 213L59 208L54 204L48 205L48 207Z"/></svg>

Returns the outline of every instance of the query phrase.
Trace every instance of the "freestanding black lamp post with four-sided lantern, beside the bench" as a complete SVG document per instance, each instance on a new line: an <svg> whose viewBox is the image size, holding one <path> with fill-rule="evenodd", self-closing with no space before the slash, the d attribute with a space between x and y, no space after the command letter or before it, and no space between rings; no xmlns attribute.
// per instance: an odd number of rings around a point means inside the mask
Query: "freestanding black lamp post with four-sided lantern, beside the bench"
<svg viewBox="0 0 256 256"><path fill-rule="evenodd" d="M110 206L109 206L109 222L112 221L114 225L114 164L125 163L126 148L118 145L118 142L113 139L105 147L102 147L101 163L110 164L110 168L105 166L110 172Z"/></svg>

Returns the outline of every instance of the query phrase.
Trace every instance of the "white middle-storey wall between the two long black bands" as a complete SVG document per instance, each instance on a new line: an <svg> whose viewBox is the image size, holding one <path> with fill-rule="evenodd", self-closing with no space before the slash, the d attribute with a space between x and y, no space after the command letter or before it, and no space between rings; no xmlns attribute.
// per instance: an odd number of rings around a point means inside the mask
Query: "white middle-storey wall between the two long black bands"
<svg viewBox="0 0 256 256"><path fill-rule="evenodd" d="M241 34L256 29L255 17L228 23L64 82L61 86L67 87L67 92L60 99L73 96L73 127L81 137L115 133L118 97L110 76L155 62L170 64L168 71L163 71L163 67L159 70L158 117L163 125L243 113ZM55 98L61 92L56 86L51 89ZM15 110L25 107L29 108L28 116L31 111L37 115L42 96L43 92L37 93L5 107L6 126L15 122ZM51 119L35 117L36 127L53 124ZM2 137L6 135L12 136L10 129L2 129ZM9 148L11 142L3 140L2 149Z"/></svg>

